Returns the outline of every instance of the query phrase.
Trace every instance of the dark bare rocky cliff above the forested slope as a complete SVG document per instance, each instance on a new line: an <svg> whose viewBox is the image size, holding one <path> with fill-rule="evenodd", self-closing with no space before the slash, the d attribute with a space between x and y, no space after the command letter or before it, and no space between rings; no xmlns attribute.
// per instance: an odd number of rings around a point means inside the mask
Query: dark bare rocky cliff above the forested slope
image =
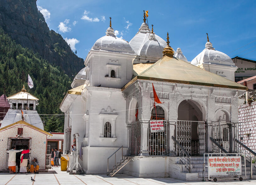
<svg viewBox="0 0 256 185"><path fill-rule="evenodd" d="M84 67L62 36L49 30L36 0L0 0L0 26L24 48L31 48L68 76Z"/></svg>

